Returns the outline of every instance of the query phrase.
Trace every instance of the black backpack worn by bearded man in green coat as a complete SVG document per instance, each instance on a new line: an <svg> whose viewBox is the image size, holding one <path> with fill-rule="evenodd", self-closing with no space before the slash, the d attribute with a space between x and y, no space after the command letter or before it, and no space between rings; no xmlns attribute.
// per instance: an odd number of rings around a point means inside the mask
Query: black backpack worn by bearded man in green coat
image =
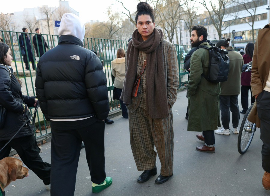
<svg viewBox="0 0 270 196"><path fill-rule="evenodd" d="M201 45L199 48L205 48L209 50L209 67L207 75L202 76L208 82L225 82L228 80L228 73L229 73L229 57L226 55L228 54L227 50L220 49L215 46L211 46L208 48L205 45Z"/></svg>

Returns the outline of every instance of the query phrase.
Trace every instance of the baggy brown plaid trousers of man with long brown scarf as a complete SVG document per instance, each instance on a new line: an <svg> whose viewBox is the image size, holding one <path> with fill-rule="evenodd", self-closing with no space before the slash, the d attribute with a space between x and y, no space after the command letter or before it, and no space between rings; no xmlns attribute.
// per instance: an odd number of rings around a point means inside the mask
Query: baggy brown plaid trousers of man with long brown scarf
<svg viewBox="0 0 270 196"><path fill-rule="evenodd" d="M130 143L138 171L151 170L156 157L161 162L161 175L173 174L173 113L170 117L152 119L140 106L128 111ZM154 150L156 146L157 152Z"/></svg>

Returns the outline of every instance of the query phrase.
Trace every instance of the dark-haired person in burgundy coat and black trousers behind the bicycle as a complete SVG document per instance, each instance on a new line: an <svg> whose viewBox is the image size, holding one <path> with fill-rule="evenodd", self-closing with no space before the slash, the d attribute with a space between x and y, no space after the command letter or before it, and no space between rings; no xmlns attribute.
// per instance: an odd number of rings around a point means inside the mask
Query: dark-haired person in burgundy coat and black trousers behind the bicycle
<svg viewBox="0 0 270 196"><path fill-rule="evenodd" d="M249 63L252 61L254 50L254 43L248 42L245 49L245 54L243 55L244 64ZM240 113L245 114L248 109L248 92L250 91L251 94L251 103L255 102L255 99L252 97L252 91L250 87L251 82L251 71L242 72L241 74L241 105L243 110Z"/></svg>

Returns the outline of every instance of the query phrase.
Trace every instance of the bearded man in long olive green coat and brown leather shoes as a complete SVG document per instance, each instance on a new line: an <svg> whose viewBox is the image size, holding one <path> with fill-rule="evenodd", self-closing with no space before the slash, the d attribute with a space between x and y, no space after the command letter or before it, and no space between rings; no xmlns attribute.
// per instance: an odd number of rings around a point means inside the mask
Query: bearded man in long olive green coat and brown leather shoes
<svg viewBox="0 0 270 196"><path fill-rule="evenodd" d="M193 26L191 29L191 46L197 47L207 43L207 29L202 25ZM209 64L209 51L204 48L197 49L190 59L190 75L187 87L188 123L187 131L202 131L197 134L199 140L205 142L197 146L200 152L215 152L214 129L220 127L219 120L219 94L220 84L208 82L202 74L207 75Z"/></svg>

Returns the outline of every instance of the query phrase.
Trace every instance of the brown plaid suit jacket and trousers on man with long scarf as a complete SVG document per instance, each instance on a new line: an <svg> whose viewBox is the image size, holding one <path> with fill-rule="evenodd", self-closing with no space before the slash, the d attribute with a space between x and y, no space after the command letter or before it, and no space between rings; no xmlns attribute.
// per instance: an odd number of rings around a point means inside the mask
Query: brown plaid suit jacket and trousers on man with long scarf
<svg viewBox="0 0 270 196"><path fill-rule="evenodd" d="M168 103L173 106L179 87L177 53L173 44L163 40L164 70L167 85ZM146 53L139 51L137 74L140 74ZM151 119L146 113L146 69L141 77L137 97L128 105L130 142L133 156L139 171L153 169L156 157L161 161L161 175L173 173L173 113L170 117ZM156 146L157 152L154 150Z"/></svg>

